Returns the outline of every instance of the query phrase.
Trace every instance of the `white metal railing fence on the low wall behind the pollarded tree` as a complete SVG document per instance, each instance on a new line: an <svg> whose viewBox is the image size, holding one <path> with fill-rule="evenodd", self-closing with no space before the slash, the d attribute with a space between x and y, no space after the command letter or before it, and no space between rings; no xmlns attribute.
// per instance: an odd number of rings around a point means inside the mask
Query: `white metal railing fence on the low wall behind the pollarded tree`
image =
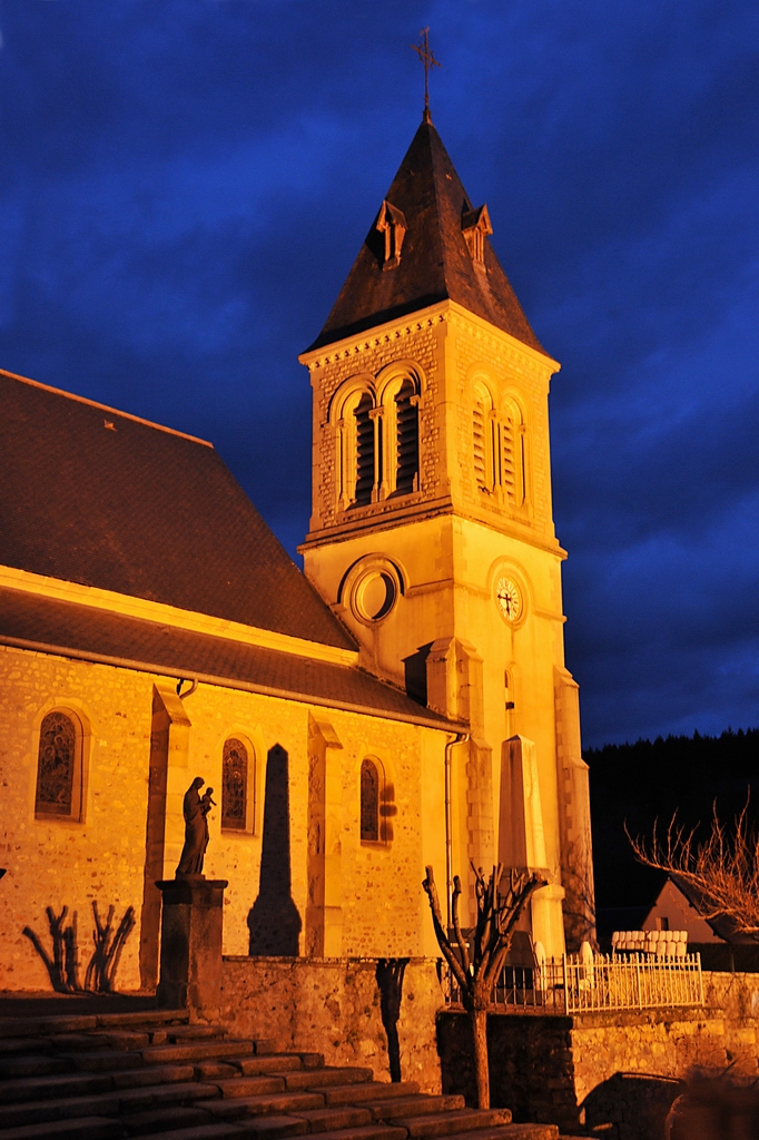
<svg viewBox="0 0 759 1140"><path fill-rule="evenodd" d="M460 1004L447 972L446 1000ZM653 958L643 954L565 954L532 969L506 967L492 992L498 1012L591 1013L625 1009L703 1005L701 955Z"/></svg>

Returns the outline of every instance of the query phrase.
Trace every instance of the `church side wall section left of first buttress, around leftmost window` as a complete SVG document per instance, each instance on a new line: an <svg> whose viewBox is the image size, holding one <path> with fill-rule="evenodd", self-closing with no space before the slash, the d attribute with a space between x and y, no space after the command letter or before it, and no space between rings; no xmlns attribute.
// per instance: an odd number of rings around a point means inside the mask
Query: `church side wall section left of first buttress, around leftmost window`
<svg viewBox="0 0 759 1140"><path fill-rule="evenodd" d="M91 954L92 903L116 921L142 902L152 681L141 673L0 648L0 987L47 991L50 980L23 929L50 947L46 907L77 915L81 980ZM34 815L39 728L71 710L84 732L81 819ZM117 983L140 984L139 929Z"/></svg>

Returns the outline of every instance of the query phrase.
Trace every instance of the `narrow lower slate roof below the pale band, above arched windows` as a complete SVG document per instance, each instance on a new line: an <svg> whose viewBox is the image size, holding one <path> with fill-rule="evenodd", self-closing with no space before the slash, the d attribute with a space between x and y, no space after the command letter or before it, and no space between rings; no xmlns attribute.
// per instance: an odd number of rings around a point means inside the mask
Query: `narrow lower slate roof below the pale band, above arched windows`
<svg viewBox="0 0 759 1140"><path fill-rule="evenodd" d="M25 591L0 588L0 643L163 676L198 677L435 728L451 727L446 717L354 666L261 649Z"/></svg>

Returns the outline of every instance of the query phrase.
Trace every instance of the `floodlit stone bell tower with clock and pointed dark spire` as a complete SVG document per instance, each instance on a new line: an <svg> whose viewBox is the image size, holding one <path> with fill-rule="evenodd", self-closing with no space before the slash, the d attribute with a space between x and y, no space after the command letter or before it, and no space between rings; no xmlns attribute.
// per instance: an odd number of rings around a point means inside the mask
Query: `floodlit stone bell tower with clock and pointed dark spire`
<svg viewBox="0 0 759 1140"><path fill-rule="evenodd" d="M417 130L325 327L305 573L366 667L464 720L450 864L547 870L547 954L593 928L587 766L564 667L539 344L432 125ZM462 734L463 735L463 734ZM441 773L442 779L442 773Z"/></svg>

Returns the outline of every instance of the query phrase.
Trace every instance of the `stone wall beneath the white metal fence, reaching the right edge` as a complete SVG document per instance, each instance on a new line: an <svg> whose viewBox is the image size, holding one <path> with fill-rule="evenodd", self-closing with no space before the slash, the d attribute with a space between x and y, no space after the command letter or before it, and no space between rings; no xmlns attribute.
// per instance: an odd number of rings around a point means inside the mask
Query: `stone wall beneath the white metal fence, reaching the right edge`
<svg viewBox="0 0 759 1140"><path fill-rule="evenodd" d="M704 1008L492 1015L491 1097L515 1121L596 1131L607 1140L661 1140L683 1081L759 1075L759 976L704 972ZM443 1092L474 1104L470 1031L463 1013L438 1018Z"/></svg>

